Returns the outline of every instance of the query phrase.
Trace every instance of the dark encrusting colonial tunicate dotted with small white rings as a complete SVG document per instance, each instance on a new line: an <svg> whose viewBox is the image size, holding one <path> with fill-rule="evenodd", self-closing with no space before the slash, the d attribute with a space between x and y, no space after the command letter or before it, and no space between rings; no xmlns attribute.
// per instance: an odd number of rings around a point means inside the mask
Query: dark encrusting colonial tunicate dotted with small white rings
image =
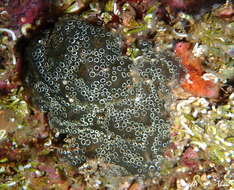
<svg viewBox="0 0 234 190"><path fill-rule="evenodd" d="M60 153L80 166L98 158L122 174L154 176L169 143L164 97L181 68L167 53L122 55L115 33L77 16L61 18L27 49L27 86L65 135Z"/></svg>

